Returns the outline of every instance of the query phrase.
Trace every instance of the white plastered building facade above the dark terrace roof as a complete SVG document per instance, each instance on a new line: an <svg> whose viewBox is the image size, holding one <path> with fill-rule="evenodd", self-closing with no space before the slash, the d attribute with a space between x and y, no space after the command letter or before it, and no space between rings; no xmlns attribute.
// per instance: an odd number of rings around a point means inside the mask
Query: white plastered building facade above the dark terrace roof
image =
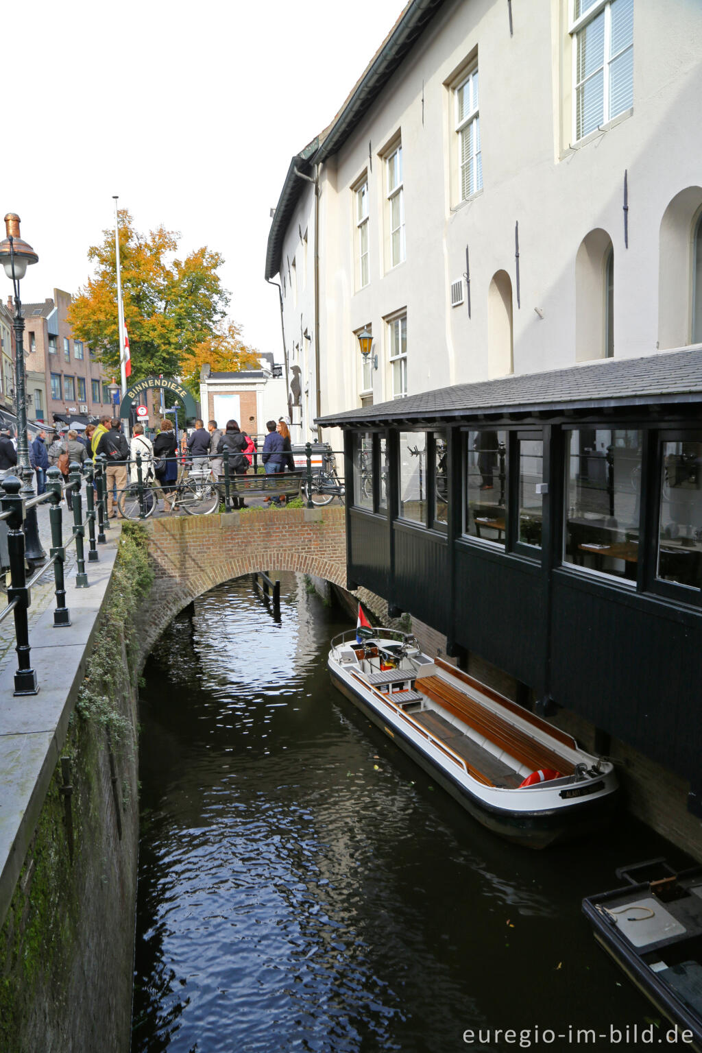
<svg viewBox="0 0 702 1053"><path fill-rule="evenodd" d="M701 32L686 0L407 4L274 217L303 441L369 401L702 342Z"/></svg>

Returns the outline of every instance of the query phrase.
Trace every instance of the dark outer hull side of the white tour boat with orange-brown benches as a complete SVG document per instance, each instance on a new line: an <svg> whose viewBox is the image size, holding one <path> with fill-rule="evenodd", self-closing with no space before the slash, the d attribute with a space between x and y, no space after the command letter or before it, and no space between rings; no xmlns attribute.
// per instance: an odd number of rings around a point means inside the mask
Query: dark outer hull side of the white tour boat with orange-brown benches
<svg viewBox="0 0 702 1053"><path fill-rule="evenodd" d="M604 797L574 802L567 808L528 812L497 808L438 767L432 757L403 732L402 728L388 727L384 715L370 704L360 690L357 691L340 676L330 662L329 675L337 690L392 738L396 746L432 777L434 782L449 793L483 827L510 841L531 849L543 849L557 841L581 837L600 829L611 818L618 806L619 795L609 793Z"/></svg>

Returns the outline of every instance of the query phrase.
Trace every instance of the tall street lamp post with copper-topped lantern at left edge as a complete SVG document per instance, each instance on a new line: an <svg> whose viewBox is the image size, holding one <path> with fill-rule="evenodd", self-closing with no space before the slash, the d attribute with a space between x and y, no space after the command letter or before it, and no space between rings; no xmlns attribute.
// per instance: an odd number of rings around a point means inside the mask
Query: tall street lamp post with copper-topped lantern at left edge
<svg viewBox="0 0 702 1053"><path fill-rule="evenodd" d="M31 497L34 497L34 472L29 462L29 444L26 432L24 318L22 317L22 304L20 301L20 281L26 274L27 266L31 263L36 263L39 257L32 245L27 244L20 237L20 218L14 212L8 212L5 216L5 234L6 237L0 241L0 261L5 269L5 274L12 279L15 299L13 329L15 330L15 390L17 391L17 460L22 477L20 493L26 501ZM43 561L46 558L46 553L39 540L37 510L34 506L26 511L24 534L26 538L24 555L26 559L31 562Z"/></svg>

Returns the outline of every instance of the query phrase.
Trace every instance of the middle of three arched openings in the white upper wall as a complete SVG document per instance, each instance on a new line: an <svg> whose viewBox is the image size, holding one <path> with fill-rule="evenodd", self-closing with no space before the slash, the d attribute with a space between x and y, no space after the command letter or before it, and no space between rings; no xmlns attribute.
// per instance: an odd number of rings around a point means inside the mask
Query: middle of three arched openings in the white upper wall
<svg viewBox="0 0 702 1053"><path fill-rule="evenodd" d="M590 231L576 256L576 360L615 353L615 253L606 231Z"/></svg>

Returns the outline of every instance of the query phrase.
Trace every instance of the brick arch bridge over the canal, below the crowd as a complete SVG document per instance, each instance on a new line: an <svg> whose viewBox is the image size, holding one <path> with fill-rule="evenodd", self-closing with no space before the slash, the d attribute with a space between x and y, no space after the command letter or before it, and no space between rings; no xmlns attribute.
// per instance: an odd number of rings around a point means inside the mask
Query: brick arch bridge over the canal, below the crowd
<svg viewBox="0 0 702 1053"><path fill-rule="evenodd" d="M298 571L346 588L344 510L250 509L146 521L154 585L139 618L147 655L179 611L215 585L255 571Z"/></svg>

